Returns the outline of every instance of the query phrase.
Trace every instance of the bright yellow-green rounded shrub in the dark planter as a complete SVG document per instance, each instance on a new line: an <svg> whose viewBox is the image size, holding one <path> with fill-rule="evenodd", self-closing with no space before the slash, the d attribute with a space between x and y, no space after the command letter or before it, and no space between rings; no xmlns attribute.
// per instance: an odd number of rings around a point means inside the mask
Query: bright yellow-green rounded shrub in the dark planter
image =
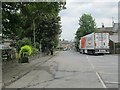
<svg viewBox="0 0 120 90"><path fill-rule="evenodd" d="M31 55L32 54L32 49L31 49L31 47L30 46L28 46L28 45L25 45L25 46L23 46L23 47L21 47L21 49L20 49L20 55L22 55L22 56L28 56L28 55Z"/></svg>

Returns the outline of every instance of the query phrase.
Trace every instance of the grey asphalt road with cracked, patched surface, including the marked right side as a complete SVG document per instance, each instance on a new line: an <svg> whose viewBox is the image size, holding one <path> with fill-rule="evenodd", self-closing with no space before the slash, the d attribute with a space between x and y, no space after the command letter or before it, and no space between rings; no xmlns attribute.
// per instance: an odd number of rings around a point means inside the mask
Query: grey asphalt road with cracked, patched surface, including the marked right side
<svg viewBox="0 0 120 90"><path fill-rule="evenodd" d="M61 51L6 88L118 88L118 56Z"/></svg>

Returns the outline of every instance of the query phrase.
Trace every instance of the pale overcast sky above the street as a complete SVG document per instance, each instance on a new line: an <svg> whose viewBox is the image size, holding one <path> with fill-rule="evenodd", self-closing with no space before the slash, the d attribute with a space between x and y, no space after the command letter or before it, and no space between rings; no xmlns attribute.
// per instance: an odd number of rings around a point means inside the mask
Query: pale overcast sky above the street
<svg viewBox="0 0 120 90"><path fill-rule="evenodd" d="M97 27L104 23L105 27L118 22L119 0L66 0L66 8L60 12L62 34L61 39L74 40L75 32L79 27L79 18L85 14L91 14Z"/></svg>

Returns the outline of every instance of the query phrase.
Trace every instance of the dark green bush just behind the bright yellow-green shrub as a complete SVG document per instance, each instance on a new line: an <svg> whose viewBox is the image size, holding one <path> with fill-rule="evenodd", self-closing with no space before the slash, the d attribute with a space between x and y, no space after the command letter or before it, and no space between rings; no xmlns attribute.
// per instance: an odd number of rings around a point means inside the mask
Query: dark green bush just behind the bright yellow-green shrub
<svg viewBox="0 0 120 90"><path fill-rule="evenodd" d="M19 41L16 43L16 50L17 50L17 52L19 52L20 49L21 49L21 47L22 47L22 46L25 46L25 45L31 46L31 41L30 41L30 39L28 39L28 38L23 38L22 40L19 40Z"/></svg>

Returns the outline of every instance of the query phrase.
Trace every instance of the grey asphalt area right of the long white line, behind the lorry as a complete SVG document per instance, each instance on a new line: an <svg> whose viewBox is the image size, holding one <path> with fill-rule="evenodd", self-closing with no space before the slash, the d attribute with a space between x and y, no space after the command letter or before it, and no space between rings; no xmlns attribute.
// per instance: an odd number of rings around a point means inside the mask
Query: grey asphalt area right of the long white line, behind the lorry
<svg viewBox="0 0 120 90"><path fill-rule="evenodd" d="M98 72L106 87L116 88L120 85L118 81L118 55L87 55L93 65L95 72Z"/></svg>

